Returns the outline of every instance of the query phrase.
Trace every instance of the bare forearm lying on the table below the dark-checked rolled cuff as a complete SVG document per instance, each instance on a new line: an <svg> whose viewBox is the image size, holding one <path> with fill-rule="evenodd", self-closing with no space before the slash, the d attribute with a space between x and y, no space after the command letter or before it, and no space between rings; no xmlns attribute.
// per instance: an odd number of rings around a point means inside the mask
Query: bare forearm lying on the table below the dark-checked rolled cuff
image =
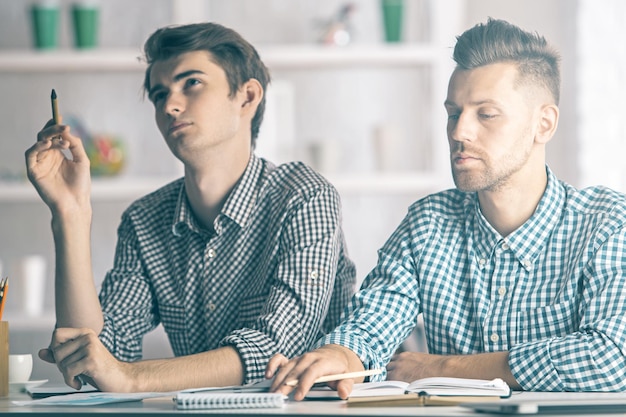
<svg viewBox="0 0 626 417"><path fill-rule="evenodd" d="M244 369L230 346L173 359L128 364L132 391L177 391L186 388L241 385Z"/></svg>

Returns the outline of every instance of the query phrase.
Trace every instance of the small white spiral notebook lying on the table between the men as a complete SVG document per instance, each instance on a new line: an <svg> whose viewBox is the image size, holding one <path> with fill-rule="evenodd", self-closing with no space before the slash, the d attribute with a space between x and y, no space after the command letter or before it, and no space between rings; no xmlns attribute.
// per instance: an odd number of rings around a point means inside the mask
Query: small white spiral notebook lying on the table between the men
<svg viewBox="0 0 626 417"><path fill-rule="evenodd" d="M279 393L228 393L228 392L178 392L176 408L227 409L227 408L280 408L285 404L285 396Z"/></svg>

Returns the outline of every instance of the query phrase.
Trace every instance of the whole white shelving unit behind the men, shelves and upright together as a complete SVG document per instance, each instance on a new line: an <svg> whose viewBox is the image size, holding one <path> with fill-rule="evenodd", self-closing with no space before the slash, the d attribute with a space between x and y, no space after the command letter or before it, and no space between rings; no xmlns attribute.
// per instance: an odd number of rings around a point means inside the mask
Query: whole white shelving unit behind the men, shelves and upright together
<svg viewBox="0 0 626 417"><path fill-rule="evenodd" d="M187 23L206 16L202 10L208 7L206 0L171 0L172 21ZM432 0L429 2L429 42L402 44L352 44L347 47L323 46L317 44L272 44L255 45L265 64L273 71L351 70L353 68L396 69L428 67L434 94L420 97L429 109L433 120L444 120L442 105L447 79L452 69L449 46L458 34L460 17L463 15L464 0ZM34 78L54 75L73 77L94 74L142 74L145 63L141 61L139 48L97 49L77 51L61 49L55 51L0 50L0 77L10 74L29 74ZM431 110L432 109L432 110ZM306 111L306 110L303 110ZM417 110L416 110L417 111ZM349 117L349 114L346 115ZM328 174L327 178L343 195L373 195L393 197L394 195L419 195L439 189L442 181L449 178L445 127L442 125L431 141L428 157L435 168L428 172L365 172ZM92 201L128 201L145 195L174 179L171 176L133 176L122 174L112 178L94 178L92 181ZM35 189L27 181L0 180L0 205L16 206L41 204ZM30 206L32 208L32 206ZM111 226L115 227L115 226ZM13 329L41 330L48 332L52 319L33 320L20 317L12 312Z"/></svg>

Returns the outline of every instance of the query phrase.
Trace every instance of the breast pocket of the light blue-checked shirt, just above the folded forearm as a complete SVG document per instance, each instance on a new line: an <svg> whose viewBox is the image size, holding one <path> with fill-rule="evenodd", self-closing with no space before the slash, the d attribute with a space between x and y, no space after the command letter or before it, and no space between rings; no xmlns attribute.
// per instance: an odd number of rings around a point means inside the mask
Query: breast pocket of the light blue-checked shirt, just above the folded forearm
<svg viewBox="0 0 626 417"><path fill-rule="evenodd" d="M562 337L575 329L575 316L566 303L517 312L517 335L513 344L550 337Z"/></svg>

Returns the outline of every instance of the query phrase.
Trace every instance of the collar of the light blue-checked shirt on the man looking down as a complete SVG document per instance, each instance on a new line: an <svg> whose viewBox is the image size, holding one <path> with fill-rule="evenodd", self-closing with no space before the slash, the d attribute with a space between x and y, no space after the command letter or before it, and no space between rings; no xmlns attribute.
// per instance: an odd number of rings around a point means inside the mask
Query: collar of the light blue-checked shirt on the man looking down
<svg viewBox="0 0 626 417"><path fill-rule="evenodd" d="M504 243L526 269L531 269L542 252L545 242L562 217L566 192L550 168L546 166L548 183L533 215L517 230L503 238L487 222L480 211L476 193L466 199L468 232L474 234L476 253L480 257L490 257L495 247Z"/></svg>

